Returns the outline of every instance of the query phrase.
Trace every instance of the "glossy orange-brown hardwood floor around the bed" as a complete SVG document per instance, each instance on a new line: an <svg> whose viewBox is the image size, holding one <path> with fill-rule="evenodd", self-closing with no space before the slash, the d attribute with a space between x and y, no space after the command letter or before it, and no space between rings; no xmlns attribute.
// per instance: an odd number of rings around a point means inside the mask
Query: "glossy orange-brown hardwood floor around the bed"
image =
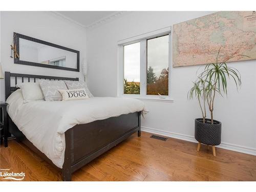
<svg viewBox="0 0 256 192"><path fill-rule="evenodd" d="M72 181L256 181L256 156L142 132L118 144L72 175ZM25 172L25 181L60 181L60 173L25 145L0 148L0 168ZM1 180L0 180L1 181ZM2 180L3 181L3 180Z"/></svg>

